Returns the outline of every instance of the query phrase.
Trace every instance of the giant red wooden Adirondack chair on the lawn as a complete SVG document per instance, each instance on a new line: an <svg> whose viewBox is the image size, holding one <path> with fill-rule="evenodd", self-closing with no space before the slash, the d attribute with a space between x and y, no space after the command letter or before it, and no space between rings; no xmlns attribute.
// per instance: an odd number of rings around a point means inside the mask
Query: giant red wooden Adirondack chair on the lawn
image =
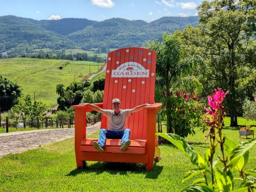
<svg viewBox="0 0 256 192"><path fill-rule="evenodd" d="M112 99L121 100L121 109L132 109L145 103L154 104L156 52L139 47L117 49L108 53L103 103L95 105L113 109ZM75 105L75 151L78 168L85 161L145 163L146 170L153 168L154 157L160 157L156 141L156 112L162 104L132 114L127 128L131 130L131 145L120 151L118 139L107 139L103 153L93 147L97 139L86 138L86 112L90 107ZM102 115L101 128L108 129L108 119Z"/></svg>

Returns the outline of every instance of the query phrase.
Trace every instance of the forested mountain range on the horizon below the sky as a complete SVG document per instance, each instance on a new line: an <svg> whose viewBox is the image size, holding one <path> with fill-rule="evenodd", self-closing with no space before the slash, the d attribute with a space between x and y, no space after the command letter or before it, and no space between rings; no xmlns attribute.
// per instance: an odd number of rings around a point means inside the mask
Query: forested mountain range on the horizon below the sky
<svg viewBox="0 0 256 192"><path fill-rule="evenodd" d="M78 18L33 20L16 16L0 17L0 52L30 52L32 49L85 50L105 46L120 48L142 46L161 38L163 32L197 25L198 17L162 17L147 23L143 20L112 18L93 21Z"/></svg>

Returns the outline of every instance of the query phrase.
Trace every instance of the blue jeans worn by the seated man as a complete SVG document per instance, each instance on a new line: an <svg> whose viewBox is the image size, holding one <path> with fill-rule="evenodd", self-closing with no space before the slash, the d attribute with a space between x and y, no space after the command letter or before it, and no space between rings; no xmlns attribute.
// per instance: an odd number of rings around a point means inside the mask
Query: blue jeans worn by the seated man
<svg viewBox="0 0 256 192"><path fill-rule="evenodd" d="M125 131L111 131L107 129L101 129L99 132L99 145L104 148L106 144L106 138L108 139L122 139L121 145L129 140L130 137L130 129L125 129Z"/></svg>

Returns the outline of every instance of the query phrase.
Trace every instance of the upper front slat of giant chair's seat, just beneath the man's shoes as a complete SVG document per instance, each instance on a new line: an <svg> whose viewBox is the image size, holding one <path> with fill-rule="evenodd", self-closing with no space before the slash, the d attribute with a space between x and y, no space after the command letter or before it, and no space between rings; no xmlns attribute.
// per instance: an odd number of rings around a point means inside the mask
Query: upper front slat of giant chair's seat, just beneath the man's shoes
<svg viewBox="0 0 256 192"><path fill-rule="evenodd" d="M88 151L88 152L98 152L96 148L93 146L86 146L81 145L80 151ZM98 152L99 153L99 152ZM103 153L139 153L139 154L145 154L146 149L145 148L139 148L139 147L128 147L125 151L120 151L120 147L104 147Z"/></svg>

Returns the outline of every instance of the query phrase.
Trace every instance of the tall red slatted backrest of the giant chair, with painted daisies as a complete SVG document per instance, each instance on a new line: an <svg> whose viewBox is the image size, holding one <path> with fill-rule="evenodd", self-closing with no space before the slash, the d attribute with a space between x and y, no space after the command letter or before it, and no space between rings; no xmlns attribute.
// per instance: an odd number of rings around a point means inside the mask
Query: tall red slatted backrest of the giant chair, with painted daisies
<svg viewBox="0 0 256 192"><path fill-rule="evenodd" d="M121 100L121 109L154 103L156 52L127 47L108 53L103 109L113 109L112 99ZM146 110L129 117L127 128L131 139L146 138ZM108 128L108 120L102 116L101 128Z"/></svg>

